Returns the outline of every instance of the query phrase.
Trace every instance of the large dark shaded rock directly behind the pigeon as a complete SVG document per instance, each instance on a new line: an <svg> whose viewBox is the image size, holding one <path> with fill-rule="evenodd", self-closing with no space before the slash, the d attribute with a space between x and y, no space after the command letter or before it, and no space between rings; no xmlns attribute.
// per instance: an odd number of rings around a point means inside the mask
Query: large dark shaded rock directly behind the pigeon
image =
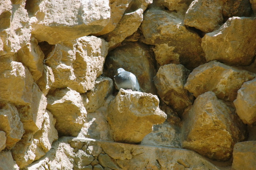
<svg viewBox="0 0 256 170"><path fill-rule="evenodd" d="M113 78L118 68L132 72L138 79L143 92L157 94L153 77L155 76L154 56L143 43L129 42L109 52L106 58L106 75Z"/></svg>

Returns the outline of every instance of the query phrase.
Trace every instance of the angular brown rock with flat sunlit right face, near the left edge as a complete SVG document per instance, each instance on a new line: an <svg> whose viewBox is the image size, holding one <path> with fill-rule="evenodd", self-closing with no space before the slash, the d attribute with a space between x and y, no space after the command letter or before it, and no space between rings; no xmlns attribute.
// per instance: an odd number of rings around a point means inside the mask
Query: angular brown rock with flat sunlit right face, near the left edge
<svg viewBox="0 0 256 170"><path fill-rule="evenodd" d="M42 127L43 115L47 106L47 99L40 91L37 84L32 86L32 102L29 105L20 105L17 107L19 111L20 121L22 121L24 129L37 132Z"/></svg>

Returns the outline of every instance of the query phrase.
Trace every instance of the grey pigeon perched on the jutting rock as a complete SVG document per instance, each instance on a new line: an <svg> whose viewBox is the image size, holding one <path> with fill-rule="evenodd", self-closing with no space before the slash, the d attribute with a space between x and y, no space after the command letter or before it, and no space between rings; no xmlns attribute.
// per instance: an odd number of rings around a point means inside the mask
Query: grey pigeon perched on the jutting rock
<svg viewBox="0 0 256 170"><path fill-rule="evenodd" d="M119 90L123 88L125 90L140 91L140 85L134 74L125 71L123 68L118 68L117 73L118 75L114 76L114 80Z"/></svg>

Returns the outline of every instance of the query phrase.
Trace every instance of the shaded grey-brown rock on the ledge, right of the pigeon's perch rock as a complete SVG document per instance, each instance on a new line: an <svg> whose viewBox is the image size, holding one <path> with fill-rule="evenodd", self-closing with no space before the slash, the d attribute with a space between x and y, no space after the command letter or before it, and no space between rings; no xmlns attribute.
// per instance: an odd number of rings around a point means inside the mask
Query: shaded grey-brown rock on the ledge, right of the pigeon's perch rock
<svg viewBox="0 0 256 170"><path fill-rule="evenodd" d="M143 138L141 145L181 148L180 133L179 126L165 121L154 125L153 131Z"/></svg>

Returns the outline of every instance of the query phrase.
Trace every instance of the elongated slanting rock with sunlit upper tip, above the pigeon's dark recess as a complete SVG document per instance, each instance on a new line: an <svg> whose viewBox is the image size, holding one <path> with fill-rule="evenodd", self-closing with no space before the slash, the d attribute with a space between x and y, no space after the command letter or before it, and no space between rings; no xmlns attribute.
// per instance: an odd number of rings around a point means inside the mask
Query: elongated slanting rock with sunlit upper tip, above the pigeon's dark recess
<svg viewBox="0 0 256 170"><path fill-rule="evenodd" d="M121 43L139 28L143 20L143 12L143 9L138 9L131 13L125 13L117 27L103 36L109 42L109 50L113 50L118 43Z"/></svg>

